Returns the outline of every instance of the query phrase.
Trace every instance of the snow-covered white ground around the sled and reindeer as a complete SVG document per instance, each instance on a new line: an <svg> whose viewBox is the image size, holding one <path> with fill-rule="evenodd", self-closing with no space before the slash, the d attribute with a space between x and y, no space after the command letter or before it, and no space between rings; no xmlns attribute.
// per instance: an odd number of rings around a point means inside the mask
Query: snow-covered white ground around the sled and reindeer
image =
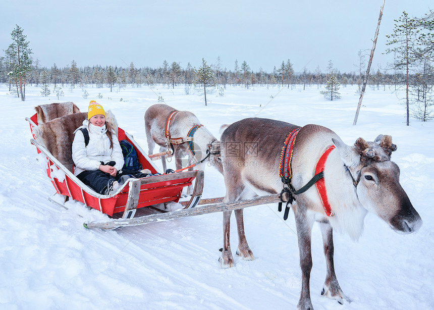
<svg viewBox="0 0 434 310"><path fill-rule="evenodd" d="M347 144L360 136L372 141L378 134L392 135L398 145L392 160L401 168L401 184L423 225L414 234L400 235L368 214L357 242L335 232L336 273L352 299L344 305L320 295L325 261L315 225L312 303L316 310L434 309L434 122L412 119L411 126L405 126L405 107L389 89L367 89L357 126L352 126L359 98L355 86L341 87L342 99L336 101L325 100L316 85L306 90L228 87L223 97L208 95L207 107L197 95L186 95L184 86L127 87L118 92L85 89L90 94L87 99L77 87L73 92L65 89L58 100L42 97L40 88L27 86L22 102L9 94L7 85L0 85L1 309L296 307L301 271L294 216L291 213L283 221L277 205L245 210L246 235L256 260L235 256L236 266L222 270L218 263L221 213L102 231L82 225L84 218L100 218L97 211L74 201L67 202L69 210L65 210L47 200L55 190L36 160L25 121L35 113L35 106L73 101L87 111L89 100L96 99L147 150L143 116L158 96L176 109L195 113L215 136L222 124L255 116L300 126L320 124ZM157 165L161 167L160 162ZM174 162L169 167L174 168ZM204 197L224 194L223 177L206 167ZM235 250L235 225L231 236Z"/></svg>

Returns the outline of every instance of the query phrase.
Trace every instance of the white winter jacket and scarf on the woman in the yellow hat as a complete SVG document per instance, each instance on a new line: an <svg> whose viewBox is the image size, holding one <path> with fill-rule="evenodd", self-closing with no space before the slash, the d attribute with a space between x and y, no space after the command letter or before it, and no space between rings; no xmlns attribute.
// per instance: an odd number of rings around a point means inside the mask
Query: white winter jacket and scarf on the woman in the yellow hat
<svg viewBox="0 0 434 310"><path fill-rule="evenodd" d="M80 128L88 128L89 144L85 146L83 132ZM102 127L89 124L76 129L72 142L72 160L74 161L74 175L85 170L98 170L101 162L115 161L118 171L124 166L124 156L118 137L113 134L113 149L110 148L110 139L105 134L105 125Z"/></svg>

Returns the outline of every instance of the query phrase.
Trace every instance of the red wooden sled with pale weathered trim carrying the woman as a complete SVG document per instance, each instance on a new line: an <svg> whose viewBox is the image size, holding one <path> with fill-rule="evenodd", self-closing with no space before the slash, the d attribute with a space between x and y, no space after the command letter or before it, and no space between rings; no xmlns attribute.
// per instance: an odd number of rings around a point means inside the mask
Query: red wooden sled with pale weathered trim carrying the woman
<svg viewBox="0 0 434 310"><path fill-rule="evenodd" d="M67 103L72 104L72 102ZM120 186L110 195L101 195L96 193L83 182L81 182L76 176L74 176L73 172L66 167L72 167L72 165L69 165L68 160L63 158L62 163L58 158L53 156L53 154L48 150L48 147L45 145L47 144L46 139L42 139L44 136L42 133L43 129L45 128L47 130L49 126L52 125L50 123L55 123L55 125L52 126L58 126L59 124L62 125L62 122L71 122L72 118L76 119L80 117L80 122L82 122L85 116L80 116L80 114L85 113L56 117L46 123L40 124L39 126L37 114L38 113L33 115L31 118L26 118L26 120L30 123L30 130L33 135L33 139L30 140L30 143L35 145L38 153L42 153L46 158L47 176L50 178L52 185L56 189L56 192L65 196L65 201L68 198L72 198L84 203L86 206L99 210L110 217L132 219L136 210L139 208L171 201L179 202L183 188L191 185L193 181L196 180L194 193L189 201L183 203L184 208L194 208L194 206L196 206L196 204L199 202L203 188L203 172L197 170L191 172L163 174L141 179L130 179L129 182L126 182ZM63 120L64 118L66 120ZM143 169L149 169L152 174L157 173L156 166L147 157L145 152L141 149L131 135L119 128L118 138L119 140L126 139L134 146L137 152L138 160ZM69 133L69 136L66 134L65 137L61 137L60 139L68 140L66 145L69 145L70 147L73 134ZM52 150L52 152L56 152L56 150ZM115 227L112 227L112 229L113 228Z"/></svg>

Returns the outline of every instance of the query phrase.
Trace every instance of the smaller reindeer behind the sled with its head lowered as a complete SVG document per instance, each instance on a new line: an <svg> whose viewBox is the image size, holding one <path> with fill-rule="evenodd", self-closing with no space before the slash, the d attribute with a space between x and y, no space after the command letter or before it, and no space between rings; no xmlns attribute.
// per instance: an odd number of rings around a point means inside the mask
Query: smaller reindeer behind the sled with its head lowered
<svg viewBox="0 0 434 310"><path fill-rule="evenodd" d="M150 106L145 113L145 131L148 142L148 154L153 153L155 143L160 146L160 152L171 148L166 136L166 126L169 116L172 116L169 131L171 139L187 138L189 131L196 125L201 125L197 117L189 111L178 111L168 105L157 104ZM176 144L172 143L175 155L176 169L182 168L182 157L187 155L189 158L188 166L198 164L196 169L203 170L205 162L208 161L220 173L223 174L222 161L220 159L220 141L217 140L206 127L201 125L192 136L192 147L187 142ZM194 154L193 154L194 152ZM203 161L206 159L205 161ZM161 156L163 170L166 171L166 156ZM191 169L190 169L191 170ZM192 187L188 189L191 193Z"/></svg>

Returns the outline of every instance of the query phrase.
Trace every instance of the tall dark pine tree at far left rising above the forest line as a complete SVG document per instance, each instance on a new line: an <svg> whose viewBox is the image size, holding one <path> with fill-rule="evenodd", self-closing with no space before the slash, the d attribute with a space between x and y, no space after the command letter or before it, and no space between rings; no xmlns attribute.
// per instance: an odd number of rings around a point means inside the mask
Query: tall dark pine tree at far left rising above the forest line
<svg viewBox="0 0 434 310"><path fill-rule="evenodd" d="M15 80L17 85L17 92L19 86L19 93L21 100L25 100L26 91L26 77L27 72L32 70L32 60L30 55L33 54L32 49L29 48L29 41L23 34L23 29L16 25L16 28L11 33L13 43L9 45L7 53L10 57L11 72L10 76Z"/></svg>

